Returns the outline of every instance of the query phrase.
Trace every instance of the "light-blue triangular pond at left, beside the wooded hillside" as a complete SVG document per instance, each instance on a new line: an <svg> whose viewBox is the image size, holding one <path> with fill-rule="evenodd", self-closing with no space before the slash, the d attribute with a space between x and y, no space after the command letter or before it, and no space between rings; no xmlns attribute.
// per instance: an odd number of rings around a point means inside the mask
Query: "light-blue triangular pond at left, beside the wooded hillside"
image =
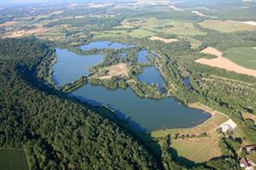
<svg viewBox="0 0 256 170"><path fill-rule="evenodd" d="M57 86L63 86L68 82L74 82L82 76L88 76L88 70L92 65L102 62L103 54L79 55L67 51L67 49L55 49L57 63L52 67L53 80Z"/></svg>

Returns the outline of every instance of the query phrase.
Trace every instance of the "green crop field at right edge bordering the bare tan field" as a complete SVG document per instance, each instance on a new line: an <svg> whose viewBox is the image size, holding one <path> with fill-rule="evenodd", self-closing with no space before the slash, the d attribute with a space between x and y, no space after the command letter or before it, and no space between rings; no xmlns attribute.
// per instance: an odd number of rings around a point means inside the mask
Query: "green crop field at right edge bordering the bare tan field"
<svg viewBox="0 0 256 170"><path fill-rule="evenodd" d="M256 48L228 48L224 51L224 57L237 65L256 70Z"/></svg>

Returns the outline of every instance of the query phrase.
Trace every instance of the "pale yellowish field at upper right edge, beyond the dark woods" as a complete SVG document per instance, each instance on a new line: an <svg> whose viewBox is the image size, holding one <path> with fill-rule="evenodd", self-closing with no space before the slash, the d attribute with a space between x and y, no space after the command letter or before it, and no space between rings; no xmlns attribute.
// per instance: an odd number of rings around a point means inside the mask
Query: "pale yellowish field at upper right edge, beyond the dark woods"
<svg viewBox="0 0 256 170"><path fill-rule="evenodd" d="M204 20L200 23L201 26L215 31L224 33L233 31L253 31L256 30L255 26L250 26L232 20Z"/></svg>

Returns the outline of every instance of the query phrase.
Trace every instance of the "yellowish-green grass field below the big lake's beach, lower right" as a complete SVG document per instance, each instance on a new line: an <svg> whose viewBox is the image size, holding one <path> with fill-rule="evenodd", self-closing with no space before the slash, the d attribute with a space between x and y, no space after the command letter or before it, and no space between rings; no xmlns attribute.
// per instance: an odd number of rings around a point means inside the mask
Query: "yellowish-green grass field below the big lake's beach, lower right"
<svg viewBox="0 0 256 170"><path fill-rule="evenodd" d="M202 163L212 157L221 156L218 139L218 133L212 133L211 137L201 139L172 140L171 146L177 150L177 156L195 161L195 163Z"/></svg>

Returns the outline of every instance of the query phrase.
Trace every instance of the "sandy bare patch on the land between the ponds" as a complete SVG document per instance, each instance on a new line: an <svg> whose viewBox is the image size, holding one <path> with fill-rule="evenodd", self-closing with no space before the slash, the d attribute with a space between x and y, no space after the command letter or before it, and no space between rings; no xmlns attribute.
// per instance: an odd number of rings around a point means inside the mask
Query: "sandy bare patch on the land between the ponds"
<svg viewBox="0 0 256 170"><path fill-rule="evenodd" d="M107 76L98 77L99 79L108 79L111 77L118 77L118 76L128 76L129 69L125 63L120 63L118 65L109 66L106 71L108 71Z"/></svg>

